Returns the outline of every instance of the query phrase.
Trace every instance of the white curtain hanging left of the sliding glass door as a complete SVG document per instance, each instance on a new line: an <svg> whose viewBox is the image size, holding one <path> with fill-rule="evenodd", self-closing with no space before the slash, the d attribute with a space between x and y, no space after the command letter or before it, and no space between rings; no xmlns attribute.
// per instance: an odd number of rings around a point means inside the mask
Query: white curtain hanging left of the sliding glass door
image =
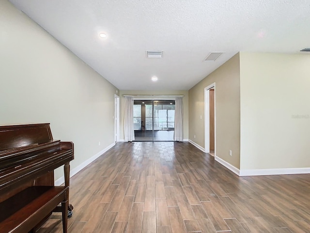
<svg viewBox="0 0 310 233"><path fill-rule="evenodd" d="M134 100L131 97L125 97L124 139L125 142L132 142L135 140Z"/></svg>

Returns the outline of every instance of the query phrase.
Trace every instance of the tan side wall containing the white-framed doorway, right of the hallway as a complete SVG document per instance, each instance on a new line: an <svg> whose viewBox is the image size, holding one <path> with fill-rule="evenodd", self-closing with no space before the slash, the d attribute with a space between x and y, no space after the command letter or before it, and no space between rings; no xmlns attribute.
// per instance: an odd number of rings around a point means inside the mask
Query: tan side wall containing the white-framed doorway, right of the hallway
<svg viewBox="0 0 310 233"><path fill-rule="evenodd" d="M189 139L202 148L204 148L204 88L212 83L216 83L216 156L239 168L239 53L189 90ZM229 155L229 150L232 150L232 156Z"/></svg>

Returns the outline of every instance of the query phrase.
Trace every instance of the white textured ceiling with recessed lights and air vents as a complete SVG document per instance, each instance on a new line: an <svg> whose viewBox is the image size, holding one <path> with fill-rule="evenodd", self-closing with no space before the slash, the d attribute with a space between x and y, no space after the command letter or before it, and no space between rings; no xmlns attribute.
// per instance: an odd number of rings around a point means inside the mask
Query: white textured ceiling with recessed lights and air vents
<svg viewBox="0 0 310 233"><path fill-rule="evenodd" d="M188 90L238 51L310 47L310 0L10 1L121 90Z"/></svg>

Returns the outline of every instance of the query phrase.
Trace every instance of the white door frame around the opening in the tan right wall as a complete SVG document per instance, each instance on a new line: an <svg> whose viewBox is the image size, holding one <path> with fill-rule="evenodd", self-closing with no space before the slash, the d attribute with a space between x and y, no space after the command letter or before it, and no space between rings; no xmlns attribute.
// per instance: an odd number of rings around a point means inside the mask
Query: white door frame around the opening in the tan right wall
<svg viewBox="0 0 310 233"><path fill-rule="evenodd" d="M214 155L216 155L216 88L212 83L204 88L204 152L210 153L210 89L214 89Z"/></svg>

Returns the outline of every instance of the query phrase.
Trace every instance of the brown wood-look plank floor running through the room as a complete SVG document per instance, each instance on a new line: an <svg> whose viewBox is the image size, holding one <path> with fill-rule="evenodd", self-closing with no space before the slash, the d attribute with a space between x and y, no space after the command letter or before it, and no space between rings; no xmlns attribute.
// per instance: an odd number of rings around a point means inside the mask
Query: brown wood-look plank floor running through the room
<svg viewBox="0 0 310 233"><path fill-rule="evenodd" d="M238 177L187 142L117 143L70 181L69 233L310 232L310 174Z"/></svg>

